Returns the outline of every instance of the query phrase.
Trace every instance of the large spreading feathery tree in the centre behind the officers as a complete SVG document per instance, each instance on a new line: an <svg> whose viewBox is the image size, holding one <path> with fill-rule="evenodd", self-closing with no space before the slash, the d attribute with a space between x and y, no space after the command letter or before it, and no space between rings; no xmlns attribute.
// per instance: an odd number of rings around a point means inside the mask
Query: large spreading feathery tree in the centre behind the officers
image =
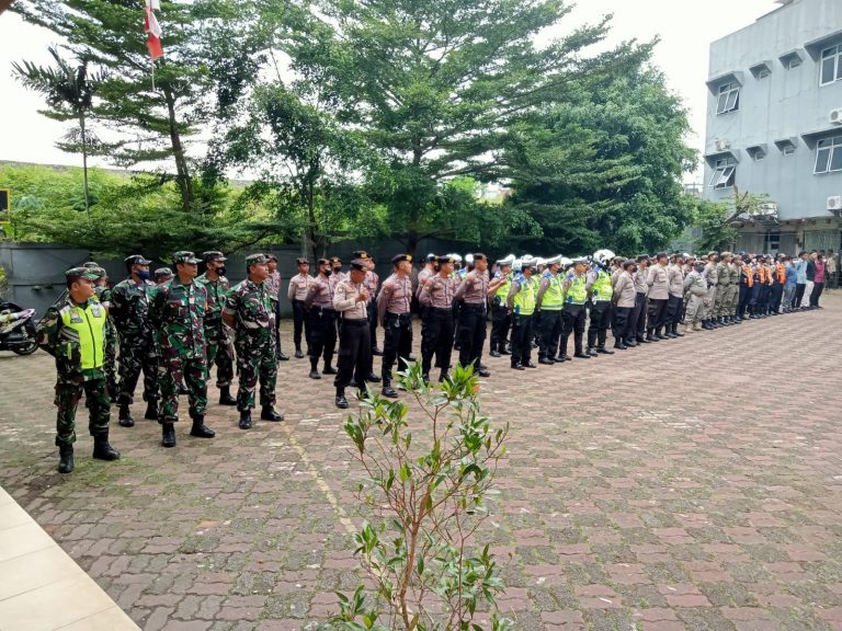
<svg viewBox="0 0 842 631"><path fill-rule="evenodd" d="M369 188L410 253L424 237L460 236L446 183L505 176L499 148L519 114L640 55L629 44L588 57L606 23L537 46L569 12L562 0L327 0L320 10L293 67L318 78L340 122L373 149Z"/></svg>

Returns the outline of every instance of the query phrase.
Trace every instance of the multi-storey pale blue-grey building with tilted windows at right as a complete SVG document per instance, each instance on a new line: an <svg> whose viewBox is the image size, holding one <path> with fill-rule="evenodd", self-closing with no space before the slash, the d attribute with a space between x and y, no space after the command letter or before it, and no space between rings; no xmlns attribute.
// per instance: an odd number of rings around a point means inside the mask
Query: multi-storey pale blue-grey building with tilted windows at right
<svg viewBox="0 0 842 631"><path fill-rule="evenodd" d="M840 250L842 0L780 8L710 45L704 197L731 207L738 250Z"/></svg>

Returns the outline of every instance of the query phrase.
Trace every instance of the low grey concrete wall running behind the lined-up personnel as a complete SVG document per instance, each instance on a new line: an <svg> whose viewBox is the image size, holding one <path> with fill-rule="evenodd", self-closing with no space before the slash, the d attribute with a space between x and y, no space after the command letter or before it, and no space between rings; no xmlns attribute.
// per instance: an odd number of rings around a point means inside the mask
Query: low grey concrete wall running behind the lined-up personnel
<svg viewBox="0 0 842 631"><path fill-rule="evenodd" d="M390 260L395 254L401 253L403 248L397 241L382 241L374 246L372 244L342 243L334 246L332 255L340 256L348 269L348 263L351 260L351 252L355 250L365 250L374 256L377 273L380 278L386 278L391 273ZM253 250L260 252L261 250ZM278 271L281 272L286 288L291 276L297 274L295 260L300 255L300 249L297 245L272 245L263 250L273 252L277 255ZM428 252L437 254L447 254L457 252L465 255L471 248L465 243L441 240L422 240L418 246L419 256L424 256ZM252 253L246 251L239 254L231 254L227 263L227 276L231 283L239 283L246 276L244 257ZM129 253L126 253L128 255ZM504 256L508 252L488 252L489 256ZM9 291L3 298L11 302L16 302L21 307L35 309L38 314L43 314L50 305L58 298L65 289L64 272L69 267L81 265L86 261L91 261L90 252L60 245L55 243L0 243L0 265L2 265L9 278ZM122 259L95 260L109 273L110 282L116 285L126 276L125 265ZM171 267L169 262L155 261L150 266L152 269L158 267ZM310 261L311 271L315 274L314 261ZM292 305L286 297L281 302L282 313L292 316Z"/></svg>

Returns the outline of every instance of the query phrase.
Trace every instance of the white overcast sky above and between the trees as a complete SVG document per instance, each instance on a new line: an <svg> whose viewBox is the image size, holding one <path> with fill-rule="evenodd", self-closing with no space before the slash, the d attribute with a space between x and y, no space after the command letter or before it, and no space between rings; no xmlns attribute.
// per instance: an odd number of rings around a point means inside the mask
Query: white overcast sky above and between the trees
<svg viewBox="0 0 842 631"><path fill-rule="evenodd" d="M655 62L664 71L670 89L678 92L690 108L694 134L687 141L701 152L705 137L705 81L710 42L751 24L776 5L774 0L580 0L560 27L570 28L613 13L612 41L648 41L659 35L661 44L656 49ZM162 15L164 51L166 20ZM138 28L141 24L138 14ZM56 37L48 31L24 24L8 11L0 15L0 95L3 103L0 160L80 163L77 156L64 153L54 146L66 127L39 115L37 110L43 107L39 96L23 89L12 78L12 61L27 59L46 65L50 61L47 46L54 43Z"/></svg>

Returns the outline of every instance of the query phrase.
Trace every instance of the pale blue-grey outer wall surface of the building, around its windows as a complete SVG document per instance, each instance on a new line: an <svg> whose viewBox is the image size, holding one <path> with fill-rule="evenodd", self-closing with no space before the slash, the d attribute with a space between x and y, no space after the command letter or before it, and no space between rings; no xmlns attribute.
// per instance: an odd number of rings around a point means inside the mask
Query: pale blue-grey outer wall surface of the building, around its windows
<svg viewBox="0 0 842 631"><path fill-rule="evenodd" d="M813 175L816 137L809 135L842 135L842 126L829 122L830 111L842 107L842 81L819 85L820 48L837 43L842 43L842 1L794 0L710 45L707 199L732 194L731 188L709 186L715 160L731 154L738 160L739 190L769 194L782 221L830 217L827 198L842 195L842 172ZM798 53L803 62L786 69L781 57L792 51ZM763 61L771 74L755 79L750 68ZM735 78L742 82L739 110L717 115L718 87ZM776 140L786 138L795 139L796 145L789 156L775 146ZM730 150L717 150L717 140L730 142ZM747 148L762 145L766 146L766 157L755 162Z"/></svg>

